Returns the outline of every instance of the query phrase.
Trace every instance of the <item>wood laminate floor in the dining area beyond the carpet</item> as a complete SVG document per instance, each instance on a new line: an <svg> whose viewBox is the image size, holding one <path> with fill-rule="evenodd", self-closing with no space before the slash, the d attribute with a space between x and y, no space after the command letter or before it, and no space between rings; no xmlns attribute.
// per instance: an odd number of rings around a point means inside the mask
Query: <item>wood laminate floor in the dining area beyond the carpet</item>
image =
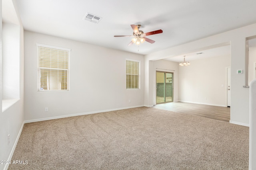
<svg viewBox="0 0 256 170"><path fill-rule="evenodd" d="M230 107L191 104L184 102L171 102L165 104L157 104L154 106L154 108L175 111L178 113L186 113L190 115L197 115L221 121L230 121Z"/></svg>

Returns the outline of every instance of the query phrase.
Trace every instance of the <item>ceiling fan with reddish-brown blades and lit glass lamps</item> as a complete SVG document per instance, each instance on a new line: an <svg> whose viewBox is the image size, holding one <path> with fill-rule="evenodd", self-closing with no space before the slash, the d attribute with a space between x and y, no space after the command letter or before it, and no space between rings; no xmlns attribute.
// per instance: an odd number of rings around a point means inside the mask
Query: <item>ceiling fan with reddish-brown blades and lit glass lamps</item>
<svg viewBox="0 0 256 170"><path fill-rule="evenodd" d="M136 45L139 45L140 43L144 43L145 41L147 41L149 43L154 43L155 42L154 40L149 39L146 36L163 33L162 29L144 33L142 30L139 30L140 26L141 26L140 24L131 25L131 27L133 29L133 35L114 35L114 37L134 37L128 45L132 45L134 43Z"/></svg>

